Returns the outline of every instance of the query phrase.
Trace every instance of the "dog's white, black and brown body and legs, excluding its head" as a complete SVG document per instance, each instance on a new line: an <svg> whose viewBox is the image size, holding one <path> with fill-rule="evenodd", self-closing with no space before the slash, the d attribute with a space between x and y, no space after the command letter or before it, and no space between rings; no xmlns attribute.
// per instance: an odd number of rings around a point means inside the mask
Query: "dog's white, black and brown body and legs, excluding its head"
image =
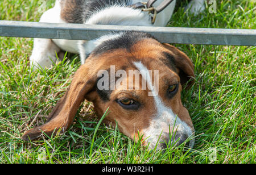
<svg viewBox="0 0 256 175"><path fill-rule="evenodd" d="M154 3L159 6L164 0ZM155 23L151 16L141 9L129 7L141 0L57 0L52 9L44 12L40 22L45 23L83 23L124 26L166 26L175 9L176 0L156 15ZM192 0L189 3L192 12L204 9L204 0ZM92 41L35 39L30 57L31 65L47 68L55 62L56 53L68 51L80 55L81 64L101 41L112 35L102 36Z"/></svg>

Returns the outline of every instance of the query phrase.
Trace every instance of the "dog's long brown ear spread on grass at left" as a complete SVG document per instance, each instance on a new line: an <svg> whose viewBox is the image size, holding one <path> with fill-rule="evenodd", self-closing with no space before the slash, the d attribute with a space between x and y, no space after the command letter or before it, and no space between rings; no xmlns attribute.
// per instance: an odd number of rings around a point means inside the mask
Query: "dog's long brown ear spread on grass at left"
<svg viewBox="0 0 256 175"><path fill-rule="evenodd" d="M97 74L96 74L97 75ZM26 131L22 136L23 140L34 140L42 134L42 131L51 136L53 132L66 131L71 124L79 109L80 104L84 101L94 87L97 77L89 72L89 66L84 64L77 70L73 76L71 85L59 102L57 102L52 113L48 116L45 124Z"/></svg>

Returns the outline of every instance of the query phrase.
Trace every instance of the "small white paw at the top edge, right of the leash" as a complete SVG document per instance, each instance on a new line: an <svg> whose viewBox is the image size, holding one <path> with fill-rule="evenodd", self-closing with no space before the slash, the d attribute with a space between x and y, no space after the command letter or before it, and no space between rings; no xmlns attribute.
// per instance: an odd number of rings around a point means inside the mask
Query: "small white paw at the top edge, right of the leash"
<svg viewBox="0 0 256 175"><path fill-rule="evenodd" d="M188 6L185 7L185 11L197 15L205 10L205 0L192 0Z"/></svg>

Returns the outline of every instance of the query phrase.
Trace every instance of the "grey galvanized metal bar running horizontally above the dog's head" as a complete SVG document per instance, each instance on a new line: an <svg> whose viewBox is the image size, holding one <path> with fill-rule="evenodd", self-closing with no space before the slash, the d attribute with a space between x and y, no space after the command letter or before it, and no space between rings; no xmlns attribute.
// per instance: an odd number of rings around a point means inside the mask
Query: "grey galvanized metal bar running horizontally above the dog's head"
<svg viewBox="0 0 256 175"><path fill-rule="evenodd" d="M113 31L142 31L162 43L256 45L256 30L223 28L106 26L0 20L0 36L93 40Z"/></svg>

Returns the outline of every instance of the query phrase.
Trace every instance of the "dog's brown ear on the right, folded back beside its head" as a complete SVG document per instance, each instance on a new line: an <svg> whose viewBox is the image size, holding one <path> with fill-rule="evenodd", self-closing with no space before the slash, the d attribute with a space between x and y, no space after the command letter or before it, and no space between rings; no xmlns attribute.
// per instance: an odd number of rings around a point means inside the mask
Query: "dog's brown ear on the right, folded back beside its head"
<svg viewBox="0 0 256 175"><path fill-rule="evenodd" d="M172 52L172 61L174 61L174 64L178 69L181 85L184 85L188 82L187 87L190 87L193 84L193 78L195 77L192 61L187 55L185 55L184 52L181 52L176 47L167 43L164 43L163 46Z"/></svg>

